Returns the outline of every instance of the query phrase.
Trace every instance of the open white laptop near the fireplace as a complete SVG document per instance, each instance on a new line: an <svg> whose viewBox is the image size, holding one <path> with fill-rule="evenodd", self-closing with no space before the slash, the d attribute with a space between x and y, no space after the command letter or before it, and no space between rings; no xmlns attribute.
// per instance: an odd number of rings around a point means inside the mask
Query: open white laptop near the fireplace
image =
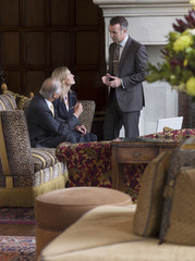
<svg viewBox="0 0 195 261"><path fill-rule="evenodd" d="M157 122L157 133L163 132L163 127L170 127L172 129L181 129L183 123L183 116L179 117L166 117L159 119Z"/></svg>

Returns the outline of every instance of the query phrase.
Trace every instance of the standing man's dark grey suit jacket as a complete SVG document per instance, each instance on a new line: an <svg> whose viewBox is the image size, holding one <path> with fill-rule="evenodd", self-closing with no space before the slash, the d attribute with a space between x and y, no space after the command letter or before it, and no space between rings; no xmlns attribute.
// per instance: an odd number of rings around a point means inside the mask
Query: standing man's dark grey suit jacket
<svg viewBox="0 0 195 261"><path fill-rule="evenodd" d="M115 42L109 48L109 73L112 75L112 61ZM129 37L124 46L115 76L122 78L124 87L115 88L117 100L122 112L139 111L145 105L142 82L145 80L148 57L145 46Z"/></svg>

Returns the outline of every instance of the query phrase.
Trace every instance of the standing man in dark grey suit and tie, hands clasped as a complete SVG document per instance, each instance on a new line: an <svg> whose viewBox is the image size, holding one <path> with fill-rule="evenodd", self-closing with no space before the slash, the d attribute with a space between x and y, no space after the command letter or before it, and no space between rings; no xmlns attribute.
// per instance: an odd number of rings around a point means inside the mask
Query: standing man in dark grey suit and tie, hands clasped
<svg viewBox="0 0 195 261"><path fill-rule="evenodd" d="M127 35L129 23L123 16L110 20L113 42L109 47L109 70L101 78L110 88L103 139L119 137L124 125L125 137L139 136L138 122L145 105L142 82L145 80L148 57L146 48Z"/></svg>

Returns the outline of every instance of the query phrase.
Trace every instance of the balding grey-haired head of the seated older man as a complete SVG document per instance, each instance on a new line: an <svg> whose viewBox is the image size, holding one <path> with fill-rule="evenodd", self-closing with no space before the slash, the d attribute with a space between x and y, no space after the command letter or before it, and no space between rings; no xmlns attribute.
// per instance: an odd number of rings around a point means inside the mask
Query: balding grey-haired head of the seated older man
<svg viewBox="0 0 195 261"><path fill-rule="evenodd" d="M52 98L52 95L57 92L58 95L61 92L61 83L56 78L47 78L44 80L39 94L45 99Z"/></svg>

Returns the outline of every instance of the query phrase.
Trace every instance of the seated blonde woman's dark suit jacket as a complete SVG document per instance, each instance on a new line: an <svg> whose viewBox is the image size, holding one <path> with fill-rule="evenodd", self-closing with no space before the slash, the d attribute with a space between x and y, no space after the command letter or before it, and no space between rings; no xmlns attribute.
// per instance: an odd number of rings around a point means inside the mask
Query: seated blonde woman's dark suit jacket
<svg viewBox="0 0 195 261"><path fill-rule="evenodd" d="M66 110L65 103L61 98L53 101L54 105L54 113L65 121L69 121L72 117L72 114L74 112L74 107L77 102L77 95L74 90L69 91L69 111Z"/></svg>

